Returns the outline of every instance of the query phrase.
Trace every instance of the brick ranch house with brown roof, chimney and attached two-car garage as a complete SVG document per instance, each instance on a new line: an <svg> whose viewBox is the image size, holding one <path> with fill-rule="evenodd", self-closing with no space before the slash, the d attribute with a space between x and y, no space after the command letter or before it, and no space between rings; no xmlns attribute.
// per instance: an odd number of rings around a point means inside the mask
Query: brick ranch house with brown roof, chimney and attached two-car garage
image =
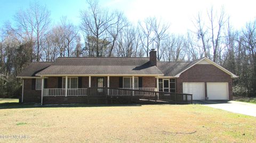
<svg viewBox="0 0 256 143"><path fill-rule="evenodd" d="M232 79L237 76L209 58L158 62L154 49L149 55L59 57L55 62L33 62L17 77L23 83L21 102L83 103L89 88L97 88L98 95L103 88L109 88L108 94L113 88L187 93L193 94L193 100L233 99ZM119 91L118 95L126 94Z"/></svg>

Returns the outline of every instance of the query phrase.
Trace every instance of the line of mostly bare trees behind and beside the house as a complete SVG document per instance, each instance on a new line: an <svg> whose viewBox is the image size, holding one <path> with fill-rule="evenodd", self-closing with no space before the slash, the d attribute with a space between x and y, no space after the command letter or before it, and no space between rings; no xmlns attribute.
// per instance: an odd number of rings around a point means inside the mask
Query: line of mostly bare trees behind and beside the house
<svg viewBox="0 0 256 143"><path fill-rule="evenodd" d="M75 25L66 16L51 21L46 6L31 3L17 11L13 22L0 28L0 95L17 96L21 81L15 77L33 61L57 57L148 57L159 61L193 61L204 56L238 75L234 94L256 96L256 20L241 29L230 23L225 9L198 13L186 34L171 33L169 23L149 17L131 23L121 11L110 11L89 0Z"/></svg>

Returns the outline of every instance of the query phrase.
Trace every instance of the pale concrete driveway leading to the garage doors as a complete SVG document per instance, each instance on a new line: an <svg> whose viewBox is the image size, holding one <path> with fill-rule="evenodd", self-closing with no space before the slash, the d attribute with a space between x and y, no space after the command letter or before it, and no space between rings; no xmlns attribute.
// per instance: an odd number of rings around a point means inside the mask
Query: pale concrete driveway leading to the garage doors
<svg viewBox="0 0 256 143"><path fill-rule="evenodd" d="M202 104L205 106L226 110L233 113L256 116L256 104L223 100L198 100L193 101L194 104Z"/></svg>

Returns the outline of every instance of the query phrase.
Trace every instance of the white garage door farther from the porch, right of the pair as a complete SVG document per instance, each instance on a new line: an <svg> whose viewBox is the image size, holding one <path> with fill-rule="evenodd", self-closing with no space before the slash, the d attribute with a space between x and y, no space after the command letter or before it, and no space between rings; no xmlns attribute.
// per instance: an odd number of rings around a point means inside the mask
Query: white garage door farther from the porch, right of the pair
<svg viewBox="0 0 256 143"><path fill-rule="evenodd" d="M228 100L228 82L207 82L209 100Z"/></svg>

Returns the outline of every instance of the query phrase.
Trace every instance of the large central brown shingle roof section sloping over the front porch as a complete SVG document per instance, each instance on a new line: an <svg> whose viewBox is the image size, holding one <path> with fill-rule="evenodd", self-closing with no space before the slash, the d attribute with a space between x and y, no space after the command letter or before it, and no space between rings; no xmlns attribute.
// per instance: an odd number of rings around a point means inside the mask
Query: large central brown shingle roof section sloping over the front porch
<svg viewBox="0 0 256 143"><path fill-rule="evenodd" d="M163 75L149 58L60 57L37 75L62 74L152 74Z"/></svg>

